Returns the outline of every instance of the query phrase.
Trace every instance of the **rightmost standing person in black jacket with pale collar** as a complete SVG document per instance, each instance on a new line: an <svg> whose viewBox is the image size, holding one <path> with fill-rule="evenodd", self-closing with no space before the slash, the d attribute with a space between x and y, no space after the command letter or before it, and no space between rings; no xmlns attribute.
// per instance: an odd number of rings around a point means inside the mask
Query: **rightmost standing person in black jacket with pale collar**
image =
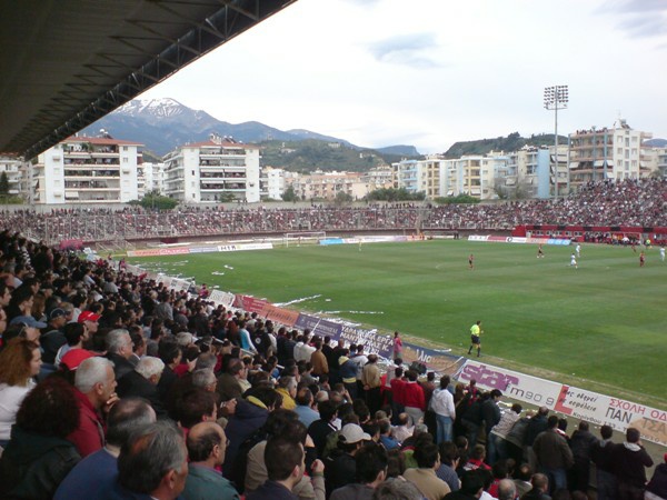
<svg viewBox="0 0 667 500"><path fill-rule="evenodd" d="M639 430L629 427L626 442L615 444L611 450L614 474L618 483L618 500L641 500L646 487L646 468L653 460L641 446Z"/></svg>

